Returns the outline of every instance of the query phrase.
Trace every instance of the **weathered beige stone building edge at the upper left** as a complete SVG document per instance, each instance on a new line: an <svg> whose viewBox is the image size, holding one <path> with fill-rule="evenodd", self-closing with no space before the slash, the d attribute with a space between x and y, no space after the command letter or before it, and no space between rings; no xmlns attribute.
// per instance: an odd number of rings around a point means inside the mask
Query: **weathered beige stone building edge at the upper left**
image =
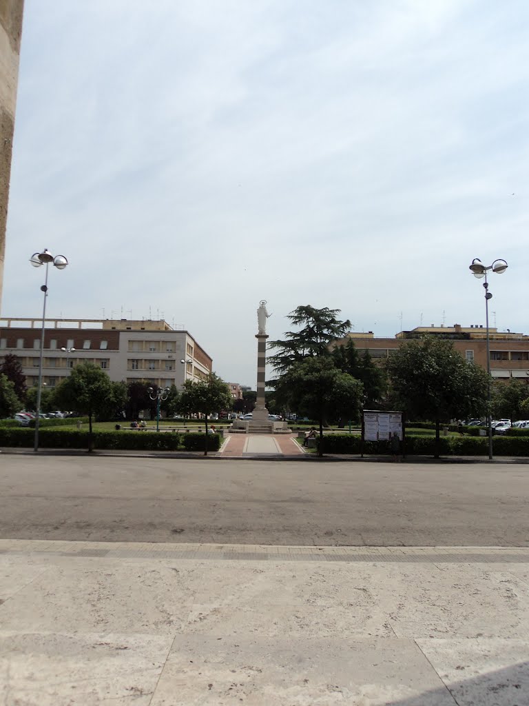
<svg viewBox="0 0 529 706"><path fill-rule="evenodd" d="M23 0L0 0L0 311Z"/></svg>

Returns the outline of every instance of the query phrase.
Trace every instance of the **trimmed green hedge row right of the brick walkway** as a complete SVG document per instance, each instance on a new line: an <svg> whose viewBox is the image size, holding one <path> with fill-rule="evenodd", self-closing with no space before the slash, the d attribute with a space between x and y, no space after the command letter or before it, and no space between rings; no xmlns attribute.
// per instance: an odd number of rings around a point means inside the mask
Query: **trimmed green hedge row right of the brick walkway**
<svg viewBox="0 0 529 706"><path fill-rule="evenodd" d="M440 453L442 456L486 456L488 454L488 439L485 436L441 436ZM499 456L529 456L529 436L525 438L509 438L495 436L493 450ZM320 448L320 438L317 438ZM349 434L332 434L323 437L323 453L361 453L360 436ZM389 441L365 441L365 454L389 455ZM406 436L406 455L433 456L435 453L434 436Z"/></svg>

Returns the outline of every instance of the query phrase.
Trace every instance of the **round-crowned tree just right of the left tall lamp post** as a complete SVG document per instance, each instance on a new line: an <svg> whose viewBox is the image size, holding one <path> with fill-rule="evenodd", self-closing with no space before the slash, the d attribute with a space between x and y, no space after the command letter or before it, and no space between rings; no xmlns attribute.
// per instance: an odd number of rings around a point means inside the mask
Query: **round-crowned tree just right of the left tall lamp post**
<svg viewBox="0 0 529 706"><path fill-rule="evenodd" d="M56 402L63 409L75 409L88 416L88 450L93 448L92 418L96 414L108 414L116 406L113 383L101 368L92 363L83 363L72 369L56 388Z"/></svg>

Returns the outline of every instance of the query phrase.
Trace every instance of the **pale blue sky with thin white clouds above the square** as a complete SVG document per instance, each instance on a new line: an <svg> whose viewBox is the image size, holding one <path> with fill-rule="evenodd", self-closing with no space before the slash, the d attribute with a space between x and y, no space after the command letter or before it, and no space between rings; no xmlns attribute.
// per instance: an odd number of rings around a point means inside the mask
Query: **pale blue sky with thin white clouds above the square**
<svg viewBox="0 0 529 706"><path fill-rule="evenodd" d="M2 316L164 318L255 388L310 304L529 333L525 0L25 0Z"/></svg>

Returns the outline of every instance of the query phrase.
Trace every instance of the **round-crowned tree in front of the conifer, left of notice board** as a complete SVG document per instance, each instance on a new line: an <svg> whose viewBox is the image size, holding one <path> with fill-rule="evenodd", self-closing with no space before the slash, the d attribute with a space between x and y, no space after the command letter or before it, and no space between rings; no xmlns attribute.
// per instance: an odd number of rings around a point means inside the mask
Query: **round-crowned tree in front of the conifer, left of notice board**
<svg viewBox="0 0 529 706"><path fill-rule="evenodd" d="M290 366L276 381L276 400L298 415L320 424L320 456L324 421L334 417L355 419L363 385L337 369L329 357L313 357Z"/></svg>

